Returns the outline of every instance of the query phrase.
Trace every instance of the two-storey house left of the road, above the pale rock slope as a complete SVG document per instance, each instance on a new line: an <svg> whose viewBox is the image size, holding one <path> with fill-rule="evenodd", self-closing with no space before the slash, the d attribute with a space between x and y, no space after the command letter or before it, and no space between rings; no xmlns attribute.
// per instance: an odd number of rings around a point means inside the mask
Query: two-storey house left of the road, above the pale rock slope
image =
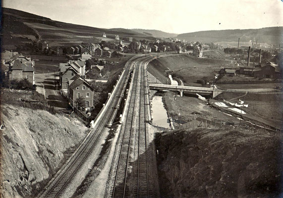
<svg viewBox="0 0 283 198"><path fill-rule="evenodd" d="M20 59L15 59L8 68L9 80L27 79L32 85L34 81L34 67L31 64L23 63Z"/></svg>

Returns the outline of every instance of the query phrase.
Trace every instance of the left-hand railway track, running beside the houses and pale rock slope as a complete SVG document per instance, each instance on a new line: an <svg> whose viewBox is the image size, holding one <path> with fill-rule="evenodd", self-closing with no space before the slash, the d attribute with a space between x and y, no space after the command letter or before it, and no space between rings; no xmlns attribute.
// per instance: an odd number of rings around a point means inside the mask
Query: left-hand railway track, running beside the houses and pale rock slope
<svg viewBox="0 0 283 198"><path fill-rule="evenodd" d="M133 60L132 60L133 61ZM42 194L42 198L57 198L60 197L67 185L70 183L72 178L77 174L77 171L85 162L89 154L92 152L93 148L96 146L102 132L105 127L110 124L110 121L113 120L112 117L115 116L119 98L121 97L122 92L125 89L129 74L130 74L130 61L127 62L125 66L125 75L124 79L117 84L118 88L116 92L113 93L114 97L110 100L110 105L107 110L104 112L102 119L100 119L93 129L94 132L86 139L86 141L80 145L77 149L76 154L68 161L68 163L61 169L61 172L53 180L53 182L47 187L46 191Z"/></svg>

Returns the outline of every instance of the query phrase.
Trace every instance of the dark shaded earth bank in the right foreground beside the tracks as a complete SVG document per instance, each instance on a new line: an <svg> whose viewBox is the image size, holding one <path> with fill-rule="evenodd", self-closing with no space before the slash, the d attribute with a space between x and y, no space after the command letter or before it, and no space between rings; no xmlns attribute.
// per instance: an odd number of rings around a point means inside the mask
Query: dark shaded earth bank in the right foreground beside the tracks
<svg viewBox="0 0 283 198"><path fill-rule="evenodd" d="M195 129L158 135L163 198L266 198L282 190L282 143L262 132Z"/></svg>

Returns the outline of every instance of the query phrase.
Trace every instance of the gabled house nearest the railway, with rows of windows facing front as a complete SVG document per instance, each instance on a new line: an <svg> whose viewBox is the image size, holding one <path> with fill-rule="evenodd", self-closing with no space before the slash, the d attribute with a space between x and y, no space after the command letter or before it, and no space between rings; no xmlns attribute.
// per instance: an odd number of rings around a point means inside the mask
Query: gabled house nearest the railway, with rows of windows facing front
<svg viewBox="0 0 283 198"><path fill-rule="evenodd" d="M94 90L90 84L81 77L74 77L68 86L68 101L72 107L76 107L76 99L82 97L86 107L93 106Z"/></svg>

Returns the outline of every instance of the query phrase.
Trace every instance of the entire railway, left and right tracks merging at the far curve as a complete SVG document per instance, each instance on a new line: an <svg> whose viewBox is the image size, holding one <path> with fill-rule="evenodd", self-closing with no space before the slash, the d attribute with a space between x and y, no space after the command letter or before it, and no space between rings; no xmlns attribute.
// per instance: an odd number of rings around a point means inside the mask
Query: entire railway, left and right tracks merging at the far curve
<svg viewBox="0 0 283 198"><path fill-rule="evenodd" d="M160 55L167 56L166 55ZM130 93L130 103L127 109L127 115L123 130L123 138L121 148L119 149L119 160L116 162L114 170L116 172L113 185L111 186L112 197L121 198L129 197L133 194L136 197L151 197L151 187L149 185L150 175L148 172L148 134L146 120L149 120L148 109L146 105L149 104L148 99L148 87L146 80L146 64L151 60L157 58L157 56L134 56L126 64L124 73L120 77L121 79L116 84L116 90L112 93L112 99L110 98L105 105L104 111L101 113L101 117L97 116L96 125L94 129L85 138L83 143L77 148L75 153L70 157L66 164L57 172L56 177L49 183L45 192L41 195L41 198L57 198L61 197L64 191L67 189L68 184L72 181L74 176L78 173L78 170L93 148L97 146L97 142L101 137L104 129L111 125L114 116L117 112L118 104L121 101L121 95L124 93L132 66L134 74L131 80L132 90ZM139 61L135 61L140 59ZM148 103L147 103L148 102ZM138 109L138 111L137 111ZM138 133L138 146L135 148L135 140L132 139L132 134ZM130 161L133 161L133 157L137 157L135 164L129 165ZM137 168L136 168L137 166ZM136 172L132 170L137 169ZM127 184L127 177L135 178L135 185L133 191L129 191L129 185ZM132 190L132 189L131 189Z"/></svg>

